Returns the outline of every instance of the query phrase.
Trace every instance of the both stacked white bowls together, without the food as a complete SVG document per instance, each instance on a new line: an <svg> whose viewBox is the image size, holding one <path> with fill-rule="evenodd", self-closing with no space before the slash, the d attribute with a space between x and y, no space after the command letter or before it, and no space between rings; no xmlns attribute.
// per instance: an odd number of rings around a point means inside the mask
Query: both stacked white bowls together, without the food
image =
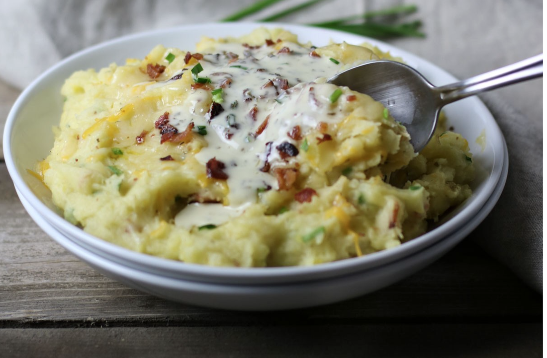
<svg viewBox="0 0 547 358"><path fill-rule="evenodd" d="M136 253L91 236L63 219L42 181L31 175L53 147L59 124L60 89L74 71L144 57L157 44L194 48L201 36L240 36L264 24L201 24L123 37L66 58L36 79L18 98L4 130L4 156L28 214L51 238L110 278L168 300L199 306L276 310L333 303L394 283L427 266L467 236L490 213L503 190L508 154L499 127L478 98L444 110L450 126L469 139L477 168L473 196L426 234L378 253L310 267L207 267ZM298 34L300 42L368 42L403 58L434 85L456 81L443 69L409 52L360 36L288 24L268 24ZM475 140L475 138L477 140ZM481 138L481 140L479 140Z"/></svg>

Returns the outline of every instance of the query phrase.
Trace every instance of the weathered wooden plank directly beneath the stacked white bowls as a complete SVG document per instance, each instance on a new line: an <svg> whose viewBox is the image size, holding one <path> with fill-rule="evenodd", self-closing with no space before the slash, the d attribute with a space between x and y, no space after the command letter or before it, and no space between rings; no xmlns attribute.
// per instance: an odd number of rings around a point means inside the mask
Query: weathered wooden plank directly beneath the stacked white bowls
<svg viewBox="0 0 547 358"><path fill-rule="evenodd" d="M542 297L465 240L386 289L325 307L239 313L168 302L116 283L46 236L0 165L0 326L246 325L258 322L540 320Z"/></svg>

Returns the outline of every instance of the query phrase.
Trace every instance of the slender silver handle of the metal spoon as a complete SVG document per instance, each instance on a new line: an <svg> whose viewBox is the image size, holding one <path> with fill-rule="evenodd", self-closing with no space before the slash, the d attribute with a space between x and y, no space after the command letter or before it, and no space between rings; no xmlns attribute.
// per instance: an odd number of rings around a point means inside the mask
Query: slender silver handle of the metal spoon
<svg viewBox="0 0 547 358"><path fill-rule="evenodd" d="M445 105L481 92L542 76L543 54L540 54L467 80L436 87L435 91L439 94L441 105Z"/></svg>

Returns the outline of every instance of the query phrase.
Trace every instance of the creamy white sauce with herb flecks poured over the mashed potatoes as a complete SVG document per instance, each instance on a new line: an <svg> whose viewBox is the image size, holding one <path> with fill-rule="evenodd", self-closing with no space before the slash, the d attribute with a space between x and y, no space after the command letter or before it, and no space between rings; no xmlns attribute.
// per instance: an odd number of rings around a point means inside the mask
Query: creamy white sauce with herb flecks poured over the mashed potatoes
<svg viewBox="0 0 547 358"><path fill-rule="evenodd" d="M324 78L339 71L341 64L328 57L310 56L310 49L297 44L287 47L290 53L266 44L257 49L220 44L218 54L204 54L200 60L203 71L197 76L209 78L213 89L224 87L220 103L224 110L211 118L207 113L211 91L205 89L193 90L182 105L169 110L169 124L179 132L190 122L206 126L204 138L208 146L201 149L196 159L203 165L213 157L223 162L229 187L228 207L190 204L177 215L177 225L219 225L241 214L242 209L237 208L256 202L258 190L278 189L275 176L260 168L266 161L272 168L284 165L276 149L278 145L288 142L298 148L298 143L288 135L294 126L300 126L304 136L319 122L344 119L339 108L343 99L330 101L338 87L324 83ZM234 59L232 54L238 58ZM288 81L288 90L284 80ZM154 87L170 83L165 81ZM265 130L255 136L266 118Z"/></svg>

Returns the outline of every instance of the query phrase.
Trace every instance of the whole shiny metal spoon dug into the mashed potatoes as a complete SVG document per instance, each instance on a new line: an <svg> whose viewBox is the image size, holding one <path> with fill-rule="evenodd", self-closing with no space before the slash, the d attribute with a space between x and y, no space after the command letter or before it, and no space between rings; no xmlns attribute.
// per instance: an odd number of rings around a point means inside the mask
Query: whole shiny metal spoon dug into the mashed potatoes
<svg viewBox="0 0 547 358"><path fill-rule="evenodd" d="M444 105L498 87L543 76L543 54L450 85L435 87L406 64L379 60L336 74L328 81L366 93L406 127L420 151L433 137Z"/></svg>

